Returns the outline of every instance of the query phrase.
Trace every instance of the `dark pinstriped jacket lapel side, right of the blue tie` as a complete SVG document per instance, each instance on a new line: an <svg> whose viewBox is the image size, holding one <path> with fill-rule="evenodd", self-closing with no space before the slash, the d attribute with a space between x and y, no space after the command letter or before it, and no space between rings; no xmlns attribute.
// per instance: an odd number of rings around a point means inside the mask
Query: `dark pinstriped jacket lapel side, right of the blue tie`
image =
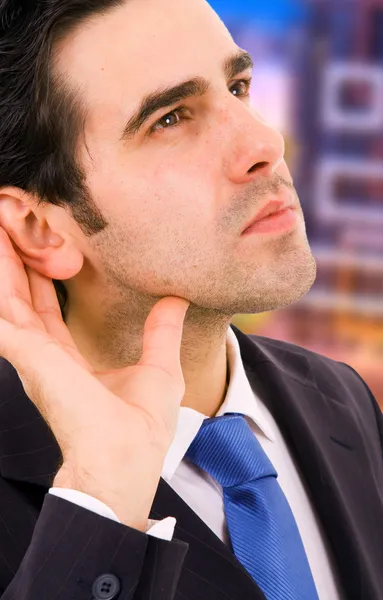
<svg viewBox="0 0 383 600"><path fill-rule="evenodd" d="M255 343L234 331L250 385L295 459L346 597L381 600L382 492L366 445L371 432L362 433L351 409L358 390L366 398L365 389L346 369L343 376L331 373L335 363L325 368L318 357L314 371L305 350L291 345L287 353L280 342L257 337Z"/></svg>

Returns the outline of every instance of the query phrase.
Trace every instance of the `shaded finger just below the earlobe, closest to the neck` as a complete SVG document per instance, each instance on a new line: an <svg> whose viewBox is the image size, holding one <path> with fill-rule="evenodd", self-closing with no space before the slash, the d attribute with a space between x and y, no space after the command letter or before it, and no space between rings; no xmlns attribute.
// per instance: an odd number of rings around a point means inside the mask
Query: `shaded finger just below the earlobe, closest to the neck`
<svg viewBox="0 0 383 600"><path fill-rule="evenodd" d="M64 346L77 362L90 370L88 363L80 355L75 341L63 321L52 279L29 267L25 267L25 271L29 280L33 308L44 323L47 333Z"/></svg>

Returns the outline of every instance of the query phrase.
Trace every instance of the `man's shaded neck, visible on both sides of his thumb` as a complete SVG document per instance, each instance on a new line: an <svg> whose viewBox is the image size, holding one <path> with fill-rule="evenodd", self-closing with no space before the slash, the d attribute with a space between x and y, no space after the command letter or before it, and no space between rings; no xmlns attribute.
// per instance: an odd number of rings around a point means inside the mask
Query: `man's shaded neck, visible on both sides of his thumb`
<svg viewBox="0 0 383 600"><path fill-rule="evenodd" d="M71 306L66 315L69 331L84 358L96 371L137 364L142 354L146 318L157 301L142 300L110 307L102 316ZM89 307L88 307L89 308ZM181 406L213 417L228 388L226 337L231 317L191 304L184 322L180 360L185 380Z"/></svg>

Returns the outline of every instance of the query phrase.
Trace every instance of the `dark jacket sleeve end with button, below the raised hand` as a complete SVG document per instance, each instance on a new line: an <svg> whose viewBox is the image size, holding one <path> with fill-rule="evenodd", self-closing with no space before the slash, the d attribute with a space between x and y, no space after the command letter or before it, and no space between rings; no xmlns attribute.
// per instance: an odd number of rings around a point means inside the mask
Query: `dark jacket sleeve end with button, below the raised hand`
<svg viewBox="0 0 383 600"><path fill-rule="evenodd" d="M46 494L27 552L1 600L90 600L112 576L116 597L172 600L189 545L166 541ZM110 582L110 577L109 577Z"/></svg>

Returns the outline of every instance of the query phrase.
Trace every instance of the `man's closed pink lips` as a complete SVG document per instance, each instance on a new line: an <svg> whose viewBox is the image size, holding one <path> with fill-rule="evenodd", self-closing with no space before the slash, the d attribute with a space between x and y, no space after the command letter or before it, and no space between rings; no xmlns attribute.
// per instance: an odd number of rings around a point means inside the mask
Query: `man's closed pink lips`
<svg viewBox="0 0 383 600"><path fill-rule="evenodd" d="M283 233L293 229L298 220L297 205L288 193L283 190L278 196L269 200L248 223L241 235L251 233Z"/></svg>

